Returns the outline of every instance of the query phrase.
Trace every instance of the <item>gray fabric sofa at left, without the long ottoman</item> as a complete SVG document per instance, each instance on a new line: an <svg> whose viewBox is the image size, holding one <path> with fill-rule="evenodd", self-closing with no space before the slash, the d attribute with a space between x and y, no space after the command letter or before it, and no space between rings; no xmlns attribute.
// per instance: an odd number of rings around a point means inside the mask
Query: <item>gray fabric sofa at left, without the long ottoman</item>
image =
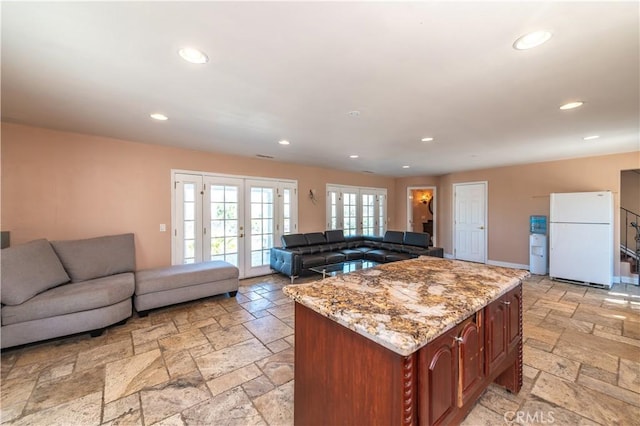
<svg viewBox="0 0 640 426"><path fill-rule="evenodd" d="M2 249L1 347L102 330L131 316L133 234Z"/></svg>

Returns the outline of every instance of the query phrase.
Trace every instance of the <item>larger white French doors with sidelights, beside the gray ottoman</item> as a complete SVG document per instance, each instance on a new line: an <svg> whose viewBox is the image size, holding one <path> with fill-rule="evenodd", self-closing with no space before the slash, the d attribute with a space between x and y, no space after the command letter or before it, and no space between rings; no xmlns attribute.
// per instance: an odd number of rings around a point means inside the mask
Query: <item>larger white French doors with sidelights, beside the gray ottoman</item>
<svg viewBox="0 0 640 426"><path fill-rule="evenodd" d="M269 255L297 231L297 184L174 172L172 263L224 260L240 277L270 273Z"/></svg>

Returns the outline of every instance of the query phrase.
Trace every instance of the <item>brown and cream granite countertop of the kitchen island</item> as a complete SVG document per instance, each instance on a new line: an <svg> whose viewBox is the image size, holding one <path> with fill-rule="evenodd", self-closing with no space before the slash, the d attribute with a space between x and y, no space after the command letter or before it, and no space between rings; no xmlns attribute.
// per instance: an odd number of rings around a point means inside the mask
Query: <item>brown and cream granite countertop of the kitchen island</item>
<svg viewBox="0 0 640 426"><path fill-rule="evenodd" d="M407 356L528 276L521 269L421 256L288 285L283 291L296 302Z"/></svg>

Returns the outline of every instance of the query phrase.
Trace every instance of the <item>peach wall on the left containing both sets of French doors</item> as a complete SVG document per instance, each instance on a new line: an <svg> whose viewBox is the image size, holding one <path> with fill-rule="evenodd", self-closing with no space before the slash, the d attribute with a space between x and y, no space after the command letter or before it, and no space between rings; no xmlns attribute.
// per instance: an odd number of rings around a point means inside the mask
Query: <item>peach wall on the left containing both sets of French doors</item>
<svg viewBox="0 0 640 426"><path fill-rule="evenodd" d="M134 232L138 268L171 263L171 169L298 181L299 229L325 229L327 183L387 188L363 173L205 153L2 123L2 230L11 243ZM317 189L317 204L306 194ZM394 220L393 205L389 216Z"/></svg>

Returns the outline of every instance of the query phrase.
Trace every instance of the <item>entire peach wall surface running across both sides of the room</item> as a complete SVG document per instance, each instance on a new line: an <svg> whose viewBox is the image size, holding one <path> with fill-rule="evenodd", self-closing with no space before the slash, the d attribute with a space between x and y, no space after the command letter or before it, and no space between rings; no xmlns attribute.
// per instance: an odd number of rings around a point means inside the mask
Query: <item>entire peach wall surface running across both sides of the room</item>
<svg viewBox="0 0 640 426"><path fill-rule="evenodd" d="M406 229L407 187L436 187L437 245L452 253L452 185L487 181L488 259L529 263L528 222L549 215L549 193L611 190L619 227L621 171L640 168L640 152L410 178L278 163L2 124L2 230L12 244L35 238L136 234L139 268L170 263L171 169L296 179L301 232L325 229L327 183L387 188L389 229ZM319 194L320 195L320 194ZM616 233L618 235L618 233ZM616 237L616 247L619 237ZM616 266L616 274L618 274Z"/></svg>

